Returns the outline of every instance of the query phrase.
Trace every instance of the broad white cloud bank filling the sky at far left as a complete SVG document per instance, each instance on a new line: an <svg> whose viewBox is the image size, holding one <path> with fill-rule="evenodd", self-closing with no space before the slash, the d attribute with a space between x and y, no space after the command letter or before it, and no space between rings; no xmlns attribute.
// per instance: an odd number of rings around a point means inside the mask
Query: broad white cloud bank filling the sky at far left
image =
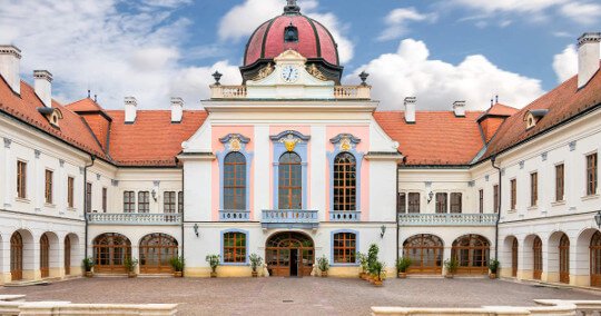
<svg viewBox="0 0 601 316"><path fill-rule="evenodd" d="M171 14L188 2L4 1L0 42L22 50L27 81L31 82L33 69L52 72L55 95L63 102L83 98L91 89L106 108L122 108L125 96L135 96L145 109L166 109L171 96L183 97L186 107L198 107L198 100L208 97L207 82L213 79L205 72L200 73L207 75L207 81L187 76L199 73L180 60L180 39L190 21ZM128 10L122 11L122 6ZM214 67L226 73L224 80L240 82L236 67L225 62Z"/></svg>

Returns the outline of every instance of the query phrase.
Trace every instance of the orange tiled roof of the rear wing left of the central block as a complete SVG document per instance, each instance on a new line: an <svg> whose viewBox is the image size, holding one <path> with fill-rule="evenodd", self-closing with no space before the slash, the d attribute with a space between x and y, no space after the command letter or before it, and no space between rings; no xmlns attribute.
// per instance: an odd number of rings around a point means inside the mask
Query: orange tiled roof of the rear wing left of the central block
<svg viewBox="0 0 601 316"><path fill-rule="evenodd" d="M171 124L169 110L138 110L134 124L125 124L125 111L107 110L112 117L109 154L120 166L177 166L181 142L200 128L207 112L185 110L180 124Z"/></svg>

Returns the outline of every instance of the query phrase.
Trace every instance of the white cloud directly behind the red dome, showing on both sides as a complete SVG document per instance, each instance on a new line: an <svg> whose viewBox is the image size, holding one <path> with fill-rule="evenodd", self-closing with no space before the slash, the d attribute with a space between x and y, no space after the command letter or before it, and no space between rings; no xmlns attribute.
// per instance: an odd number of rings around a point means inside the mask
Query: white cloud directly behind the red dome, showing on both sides
<svg viewBox="0 0 601 316"><path fill-rule="evenodd" d="M244 3L231 8L219 21L219 39L239 41L250 37L253 31L263 22L282 14L282 0L245 0ZM341 62L353 59L353 42L344 36L348 27L339 21L332 12L318 12L315 0L298 1L302 12L326 27L338 43Z"/></svg>

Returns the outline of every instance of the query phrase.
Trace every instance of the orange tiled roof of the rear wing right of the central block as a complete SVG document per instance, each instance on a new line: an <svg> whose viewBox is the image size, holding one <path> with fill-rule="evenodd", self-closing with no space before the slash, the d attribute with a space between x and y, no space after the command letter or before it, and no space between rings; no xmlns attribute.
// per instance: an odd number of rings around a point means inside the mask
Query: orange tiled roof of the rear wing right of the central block
<svg viewBox="0 0 601 316"><path fill-rule="evenodd" d="M483 141L476 119L482 112L467 111L457 118L453 111L418 111L415 124L406 124L403 111L376 111L384 131L398 141L405 165L469 165Z"/></svg>

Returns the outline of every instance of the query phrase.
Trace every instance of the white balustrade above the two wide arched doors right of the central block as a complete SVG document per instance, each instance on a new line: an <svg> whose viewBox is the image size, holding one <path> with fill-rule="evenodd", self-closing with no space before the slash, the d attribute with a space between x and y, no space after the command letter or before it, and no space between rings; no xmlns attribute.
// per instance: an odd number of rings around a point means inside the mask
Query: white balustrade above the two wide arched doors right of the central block
<svg viewBox="0 0 601 316"><path fill-rule="evenodd" d="M496 214L398 214L402 226L494 226Z"/></svg>

